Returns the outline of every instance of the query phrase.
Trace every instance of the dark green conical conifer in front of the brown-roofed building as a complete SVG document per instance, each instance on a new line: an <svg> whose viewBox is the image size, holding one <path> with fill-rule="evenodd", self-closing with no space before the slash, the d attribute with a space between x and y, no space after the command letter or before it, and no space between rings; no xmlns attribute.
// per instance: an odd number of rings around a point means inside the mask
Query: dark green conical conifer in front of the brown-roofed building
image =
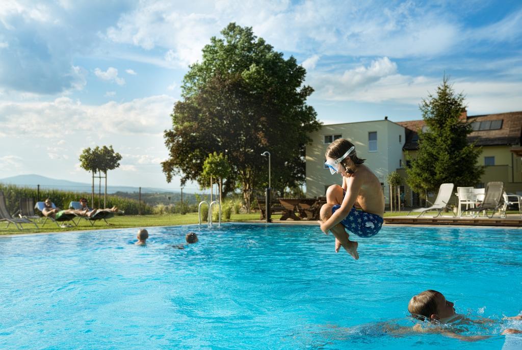
<svg viewBox="0 0 522 350"><path fill-rule="evenodd" d="M422 197L443 183L474 186L484 173L478 165L481 148L468 142L472 129L460 118L466 110L464 99L444 77L436 95L429 94L419 106L427 128L419 130L419 150L416 158L409 157L406 182Z"/></svg>

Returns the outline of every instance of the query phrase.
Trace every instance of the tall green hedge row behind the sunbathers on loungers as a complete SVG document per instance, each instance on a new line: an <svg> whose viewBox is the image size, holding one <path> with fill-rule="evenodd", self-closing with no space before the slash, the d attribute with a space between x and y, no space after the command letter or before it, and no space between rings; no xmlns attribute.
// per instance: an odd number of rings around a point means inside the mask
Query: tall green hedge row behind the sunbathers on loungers
<svg viewBox="0 0 522 350"><path fill-rule="evenodd" d="M37 189L30 187L18 187L14 185L0 184L0 191L4 192L6 198L7 211L10 214L14 214L20 207L20 198L32 198L34 202L38 200ZM50 198L56 207L67 209L69 203L72 201L78 201L81 197L87 198L89 201L89 207L97 207L98 196L94 196L94 204L90 203L91 194L86 192L72 192L72 191L61 191L56 189L40 189L40 201L44 201L45 198ZM103 206L103 195L101 198ZM128 199L118 196L107 195L107 208L113 206L118 209L125 211L125 214L136 215L138 214L139 202L134 199ZM153 209L145 203L141 203L141 214L152 214Z"/></svg>

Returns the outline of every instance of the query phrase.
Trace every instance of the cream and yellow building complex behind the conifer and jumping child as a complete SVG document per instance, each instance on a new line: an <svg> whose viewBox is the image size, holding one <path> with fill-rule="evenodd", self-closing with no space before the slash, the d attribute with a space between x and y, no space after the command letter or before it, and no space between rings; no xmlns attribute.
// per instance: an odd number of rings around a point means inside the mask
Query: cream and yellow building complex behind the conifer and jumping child
<svg viewBox="0 0 522 350"><path fill-rule="evenodd" d="M478 147L482 147L479 164L485 166L485 173L480 185L502 181L507 192L522 195L522 164L516 153L517 150L521 152L522 112L478 116L462 113L461 119L471 123L473 128L469 141L475 141ZM389 204L386 177L393 171L406 177L406 152L414 158L418 130L423 127L423 120L394 123L387 117L371 122L323 125L310 135L312 144L306 146L307 196L324 196L328 186L341 183L339 175L331 175L325 168L324 154L329 143L345 138L355 145L359 158L365 158L365 164L381 180L385 201ZM403 183L406 184L405 181ZM401 186L401 193L404 194L406 206L422 204L419 196L407 185Z"/></svg>

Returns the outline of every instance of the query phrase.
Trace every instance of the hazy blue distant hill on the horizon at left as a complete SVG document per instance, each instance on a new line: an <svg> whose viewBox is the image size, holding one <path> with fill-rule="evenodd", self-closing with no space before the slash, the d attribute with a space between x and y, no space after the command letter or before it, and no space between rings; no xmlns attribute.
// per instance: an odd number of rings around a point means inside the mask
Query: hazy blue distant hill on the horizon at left
<svg viewBox="0 0 522 350"><path fill-rule="evenodd" d="M0 179L2 184L16 185L20 187L36 187L40 185L40 188L53 188L64 191L74 192L90 192L91 184L73 182L69 180L53 179L41 175L29 174L29 175L17 175ZM102 191L103 191L102 182ZM96 182L94 183L94 190L98 190ZM107 186L107 193L113 194L115 192L138 192L138 187L132 186ZM142 193L179 193L179 190L153 188L153 187L141 187Z"/></svg>

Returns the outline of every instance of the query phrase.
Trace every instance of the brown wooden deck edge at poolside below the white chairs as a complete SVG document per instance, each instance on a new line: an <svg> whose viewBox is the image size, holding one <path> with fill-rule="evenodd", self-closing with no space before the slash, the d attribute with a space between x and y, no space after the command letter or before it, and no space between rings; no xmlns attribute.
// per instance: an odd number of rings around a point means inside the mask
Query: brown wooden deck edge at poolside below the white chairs
<svg viewBox="0 0 522 350"><path fill-rule="evenodd" d="M507 218L493 216L488 219L480 218L454 218L453 216L387 216L384 218L385 224L405 224L405 225L467 225L467 226L522 226L520 215L508 215Z"/></svg>

